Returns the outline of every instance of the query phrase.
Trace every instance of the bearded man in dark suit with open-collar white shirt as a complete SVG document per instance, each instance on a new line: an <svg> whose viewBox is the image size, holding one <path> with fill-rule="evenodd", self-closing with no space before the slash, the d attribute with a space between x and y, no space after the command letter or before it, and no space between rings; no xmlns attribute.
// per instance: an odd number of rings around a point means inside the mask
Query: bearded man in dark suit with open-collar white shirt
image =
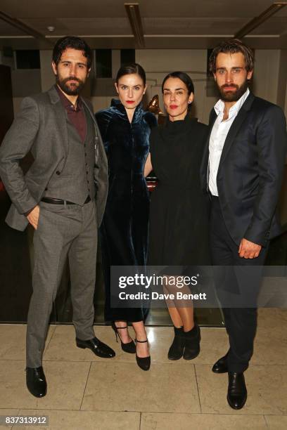
<svg viewBox="0 0 287 430"><path fill-rule="evenodd" d="M287 146L281 108L248 89L253 65L253 51L238 39L224 41L212 51L210 70L220 100L210 113L201 168L212 202L215 286L230 344L212 371L228 372L227 400L234 409L243 408L247 398L243 372L253 355L262 265L269 240L281 231L276 204Z"/></svg>

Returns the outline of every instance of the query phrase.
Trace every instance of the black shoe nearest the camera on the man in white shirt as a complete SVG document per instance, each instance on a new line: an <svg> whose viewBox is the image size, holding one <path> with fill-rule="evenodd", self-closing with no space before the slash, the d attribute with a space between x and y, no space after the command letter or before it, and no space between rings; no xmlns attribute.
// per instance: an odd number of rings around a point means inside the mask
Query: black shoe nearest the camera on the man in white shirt
<svg viewBox="0 0 287 430"><path fill-rule="evenodd" d="M241 409L245 405L247 399L247 390L243 372L228 372L228 391L227 401L233 409Z"/></svg>

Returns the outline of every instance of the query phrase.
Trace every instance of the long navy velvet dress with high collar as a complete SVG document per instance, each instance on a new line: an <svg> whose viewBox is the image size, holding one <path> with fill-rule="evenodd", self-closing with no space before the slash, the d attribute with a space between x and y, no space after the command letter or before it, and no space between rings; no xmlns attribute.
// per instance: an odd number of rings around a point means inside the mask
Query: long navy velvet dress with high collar
<svg viewBox="0 0 287 430"><path fill-rule="evenodd" d="M105 319L137 322L145 319L143 308L110 306L110 266L146 265L149 196L144 164L157 120L138 105L129 123L125 106L115 99L110 108L96 113L96 120L108 157L108 200L100 228Z"/></svg>

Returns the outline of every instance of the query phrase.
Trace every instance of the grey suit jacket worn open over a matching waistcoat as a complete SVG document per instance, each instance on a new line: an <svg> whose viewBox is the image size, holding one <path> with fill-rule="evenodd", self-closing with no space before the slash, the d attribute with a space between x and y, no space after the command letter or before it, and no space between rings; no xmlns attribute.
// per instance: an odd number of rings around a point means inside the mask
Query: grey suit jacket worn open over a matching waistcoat
<svg viewBox="0 0 287 430"><path fill-rule="evenodd" d="M91 103L83 102L95 126L94 178L97 223L100 226L108 193L108 162ZM19 162L30 150L34 162L24 176ZM20 112L0 146L0 176L13 203L6 217L9 226L25 230L28 221L23 214L42 199L53 172L63 169L67 155L65 109L55 86L46 93L24 98Z"/></svg>

